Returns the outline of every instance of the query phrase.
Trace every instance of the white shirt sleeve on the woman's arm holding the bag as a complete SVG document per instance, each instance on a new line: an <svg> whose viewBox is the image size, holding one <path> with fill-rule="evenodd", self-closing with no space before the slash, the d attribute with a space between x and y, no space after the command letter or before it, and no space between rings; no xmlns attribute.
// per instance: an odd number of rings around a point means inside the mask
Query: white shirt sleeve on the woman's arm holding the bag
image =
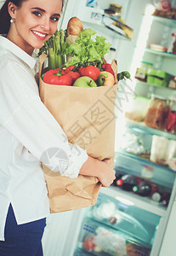
<svg viewBox="0 0 176 256"><path fill-rule="evenodd" d="M65 132L41 101L30 72L15 61L1 68L0 123L51 170L77 177L88 154L68 143Z"/></svg>

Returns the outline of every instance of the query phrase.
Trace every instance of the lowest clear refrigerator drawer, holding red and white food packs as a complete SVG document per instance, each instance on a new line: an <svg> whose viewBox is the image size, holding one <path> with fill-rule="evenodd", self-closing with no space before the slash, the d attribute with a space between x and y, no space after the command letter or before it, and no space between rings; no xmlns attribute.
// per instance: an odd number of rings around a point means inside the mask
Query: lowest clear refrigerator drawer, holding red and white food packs
<svg viewBox="0 0 176 256"><path fill-rule="evenodd" d="M126 236L89 218L82 220L77 247L93 255L150 255L150 247L139 243L133 236Z"/></svg>

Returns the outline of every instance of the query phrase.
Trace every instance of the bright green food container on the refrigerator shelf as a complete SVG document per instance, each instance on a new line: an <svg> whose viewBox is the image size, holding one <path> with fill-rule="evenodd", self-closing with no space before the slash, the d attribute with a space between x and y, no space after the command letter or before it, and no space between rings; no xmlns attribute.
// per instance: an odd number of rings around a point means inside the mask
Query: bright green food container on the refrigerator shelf
<svg viewBox="0 0 176 256"><path fill-rule="evenodd" d="M152 69L147 73L147 83L167 87L172 75L162 70Z"/></svg>

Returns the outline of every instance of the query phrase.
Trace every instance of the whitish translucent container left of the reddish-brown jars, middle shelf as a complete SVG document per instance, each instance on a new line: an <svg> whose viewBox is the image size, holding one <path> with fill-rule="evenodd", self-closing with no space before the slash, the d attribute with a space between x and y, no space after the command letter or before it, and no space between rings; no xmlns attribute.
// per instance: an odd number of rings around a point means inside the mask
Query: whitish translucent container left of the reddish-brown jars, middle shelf
<svg viewBox="0 0 176 256"><path fill-rule="evenodd" d="M128 102L125 117L136 122L143 122L147 109L149 106L150 98L143 96L135 96Z"/></svg>

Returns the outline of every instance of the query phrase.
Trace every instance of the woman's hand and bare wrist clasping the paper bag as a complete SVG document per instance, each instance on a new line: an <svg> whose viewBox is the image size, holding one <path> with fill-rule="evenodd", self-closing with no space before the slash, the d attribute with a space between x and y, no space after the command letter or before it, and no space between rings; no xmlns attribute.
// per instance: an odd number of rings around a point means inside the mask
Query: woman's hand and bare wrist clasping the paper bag
<svg viewBox="0 0 176 256"><path fill-rule="evenodd" d="M116 178L116 172L111 166L110 159L100 161L91 156L88 156L88 160L82 165L79 174L98 177L103 187L109 187Z"/></svg>

